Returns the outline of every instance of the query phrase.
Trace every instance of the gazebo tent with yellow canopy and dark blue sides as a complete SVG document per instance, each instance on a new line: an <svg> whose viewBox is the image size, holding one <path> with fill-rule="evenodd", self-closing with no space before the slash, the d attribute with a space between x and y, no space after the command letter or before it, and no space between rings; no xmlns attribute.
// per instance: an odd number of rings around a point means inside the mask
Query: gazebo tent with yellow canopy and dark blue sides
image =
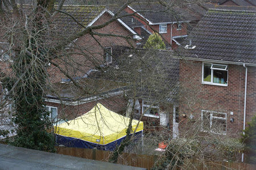
<svg viewBox="0 0 256 170"><path fill-rule="evenodd" d="M114 150L115 146L125 139L129 121L130 118L110 111L104 105L97 103L82 116L54 126L56 143L69 147ZM143 122L133 120L131 125L131 134L135 133L137 138L141 137Z"/></svg>

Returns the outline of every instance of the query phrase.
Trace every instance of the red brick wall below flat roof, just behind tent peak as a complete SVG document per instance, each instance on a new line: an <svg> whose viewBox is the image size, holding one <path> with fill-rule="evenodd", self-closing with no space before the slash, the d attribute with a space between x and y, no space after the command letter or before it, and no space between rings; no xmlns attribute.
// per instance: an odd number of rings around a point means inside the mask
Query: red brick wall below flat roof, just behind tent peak
<svg viewBox="0 0 256 170"><path fill-rule="evenodd" d="M127 101L123 95L117 95L113 97L108 97L105 99L100 99L97 101L91 101L79 105L64 105L57 103L46 102L46 105L57 107L58 116L65 120L72 120L73 118L79 117L82 114L90 111L96 103L101 103L106 108L110 109L115 113L123 114L126 111Z"/></svg>

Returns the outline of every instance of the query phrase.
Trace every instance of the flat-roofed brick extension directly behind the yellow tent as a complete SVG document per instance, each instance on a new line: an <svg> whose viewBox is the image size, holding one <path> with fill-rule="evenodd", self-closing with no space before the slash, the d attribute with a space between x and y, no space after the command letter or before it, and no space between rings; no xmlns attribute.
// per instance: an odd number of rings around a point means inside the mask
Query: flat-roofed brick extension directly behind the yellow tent
<svg viewBox="0 0 256 170"><path fill-rule="evenodd" d="M90 111L96 103L101 103L116 113L125 113L125 83L89 78L77 80L76 83L86 88L86 93L73 82L53 84L54 92L46 96L46 108L51 112L53 120L72 120Z"/></svg>

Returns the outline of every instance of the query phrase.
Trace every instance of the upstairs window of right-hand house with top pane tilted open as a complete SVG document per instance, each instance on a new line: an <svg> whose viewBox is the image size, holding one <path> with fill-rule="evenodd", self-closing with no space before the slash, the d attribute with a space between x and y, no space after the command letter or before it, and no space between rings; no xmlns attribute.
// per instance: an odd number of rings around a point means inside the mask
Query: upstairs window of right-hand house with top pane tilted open
<svg viewBox="0 0 256 170"><path fill-rule="evenodd" d="M228 66L203 63L202 83L228 86Z"/></svg>

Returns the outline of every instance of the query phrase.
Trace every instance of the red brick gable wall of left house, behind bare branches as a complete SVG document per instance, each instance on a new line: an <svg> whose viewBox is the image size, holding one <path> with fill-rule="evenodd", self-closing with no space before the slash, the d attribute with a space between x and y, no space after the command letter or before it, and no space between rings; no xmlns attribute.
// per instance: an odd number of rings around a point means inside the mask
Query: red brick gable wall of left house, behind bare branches
<svg viewBox="0 0 256 170"><path fill-rule="evenodd" d="M107 22L111 16L107 13L102 15L93 25L99 25ZM96 32L105 34L122 35L133 38L133 35L123 27L119 22L115 21L110 23L104 28L96 29ZM111 36L95 36L98 42L103 47L110 47L114 45L130 46L130 44L121 37L111 37ZM54 59L53 62L58 63L61 68L66 71L71 76L83 76L90 69L94 69L95 66L99 66L104 63L104 50L98 45L98 42L93 39L90 35L81 36L76 40L76 45L83 50L76 50L77 52L88 55L74 54L72 56L65 56L61 59ZM136 41L130 40L130 42L135 46ZM94 63L92 63L92 61ZM49 77L51 82L60 82L61 78L67 79L59 69L55 66L51 66L48 69Z"/></svg>

